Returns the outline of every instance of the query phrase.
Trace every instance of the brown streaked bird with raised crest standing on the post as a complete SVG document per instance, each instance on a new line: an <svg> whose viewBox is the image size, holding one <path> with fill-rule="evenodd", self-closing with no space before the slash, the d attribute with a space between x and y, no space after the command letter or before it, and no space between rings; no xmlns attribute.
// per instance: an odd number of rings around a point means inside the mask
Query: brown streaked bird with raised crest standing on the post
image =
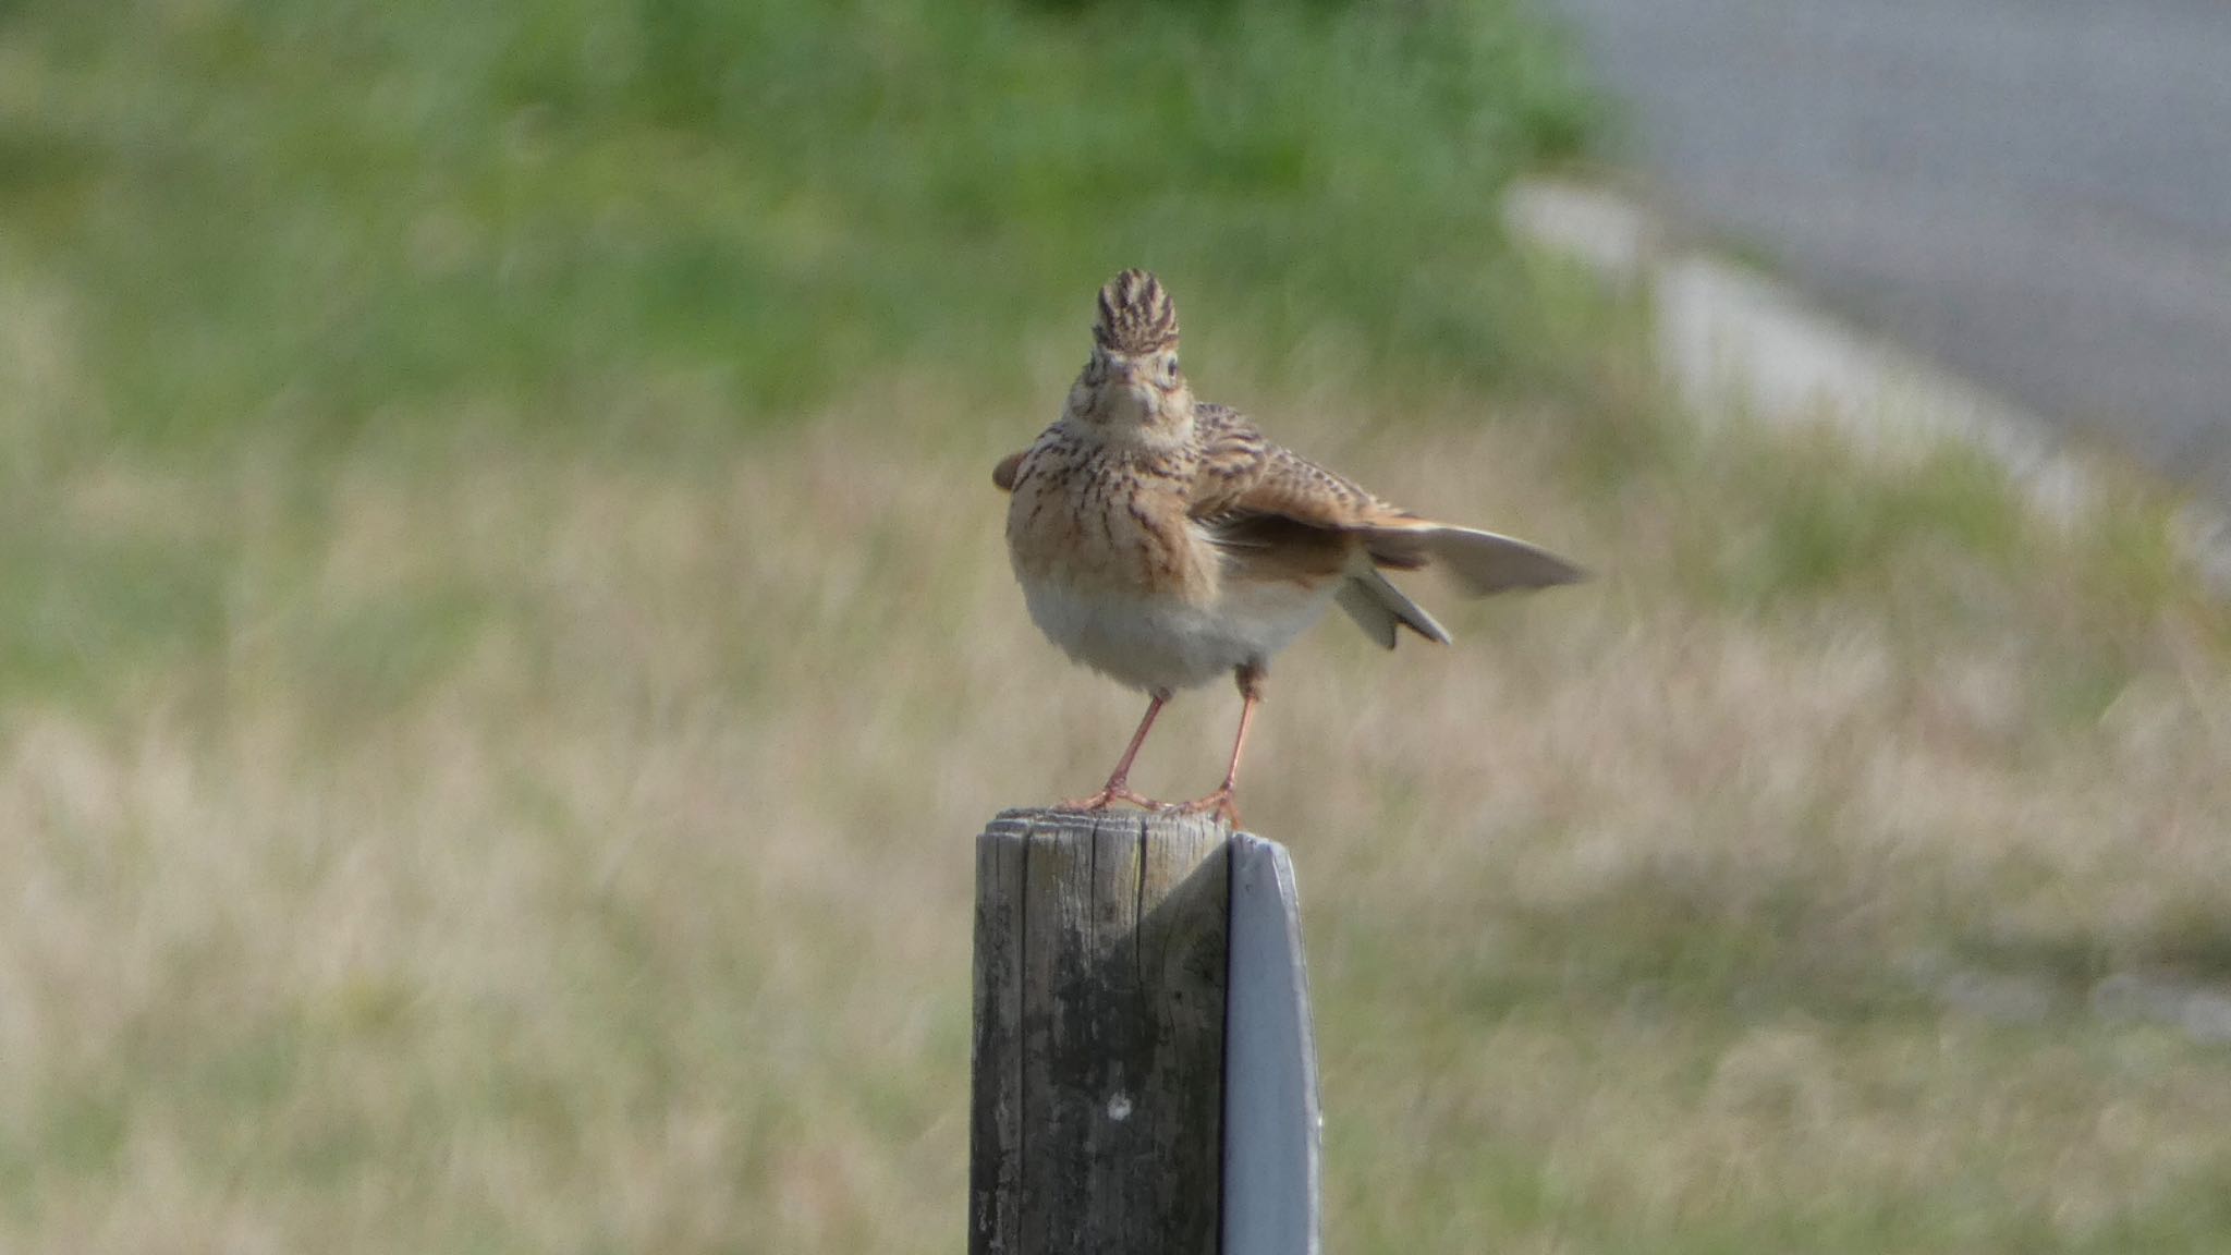
<svg viewBox="0 0 2231 1255"><path fill-rule="evenodd" d="M1176 690L1232 674L1240 728L1225 782L1182 808L1236 822L1269 657L1327 605L1390 650L1401 628L1448 643L1381 569L1441 567L1472 596L1584 578L1524 540L1397 509L1272 444L1236 409L1194 400L1178 306L1145 270L1100 288L1093 353L1062 418L1002 458L993 482L1013 494L1006 547L1031 619L1071 659L1149 697L1107 786L1069 808L1169 808L1131 791L1131 761Z"/></svg>

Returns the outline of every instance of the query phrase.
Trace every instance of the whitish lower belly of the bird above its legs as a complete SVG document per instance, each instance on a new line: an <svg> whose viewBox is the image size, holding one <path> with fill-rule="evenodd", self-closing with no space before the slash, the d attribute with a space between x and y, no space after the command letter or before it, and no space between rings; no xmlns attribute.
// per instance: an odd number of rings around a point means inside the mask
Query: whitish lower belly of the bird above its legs
<svg viewBox="0 0 2231 1255"><path fill-rule="evenodd" d="M1071 659L1147 692L1196 688L1265 663L1332 603L1339 581L1227 583L1207 605L1026 581L1031 621Z"/></svg>

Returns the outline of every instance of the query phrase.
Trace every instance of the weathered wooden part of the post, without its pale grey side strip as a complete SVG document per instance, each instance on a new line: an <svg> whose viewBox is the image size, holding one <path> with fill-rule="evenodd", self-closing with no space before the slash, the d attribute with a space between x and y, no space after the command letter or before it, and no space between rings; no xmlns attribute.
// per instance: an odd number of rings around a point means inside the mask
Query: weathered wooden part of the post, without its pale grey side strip
<svg viewBox="0 0 2231 1255"><path fill-rule="evenodd" d="M977 840L970 1255L1216 1255L1229 833L1008 811Z"/></svg>

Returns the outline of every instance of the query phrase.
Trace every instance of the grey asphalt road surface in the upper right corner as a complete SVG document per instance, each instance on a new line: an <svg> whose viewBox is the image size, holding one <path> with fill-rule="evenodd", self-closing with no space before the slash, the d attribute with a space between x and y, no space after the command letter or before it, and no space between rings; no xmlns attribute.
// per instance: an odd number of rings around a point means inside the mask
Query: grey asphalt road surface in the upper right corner
<svg viewBox="0 0 2231 1255"><path fill-rule="evenodd" d="M2231 500L2231 0L1546 0L1827 306Z"/></svg>

